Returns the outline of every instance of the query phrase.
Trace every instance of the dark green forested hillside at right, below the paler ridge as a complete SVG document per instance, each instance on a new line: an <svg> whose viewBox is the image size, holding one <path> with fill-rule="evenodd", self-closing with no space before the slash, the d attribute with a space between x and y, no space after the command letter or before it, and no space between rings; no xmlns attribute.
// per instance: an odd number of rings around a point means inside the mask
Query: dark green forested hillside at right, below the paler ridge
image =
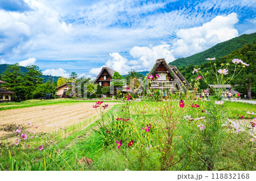
<svg viewBox="0 0 256 181"><path fill-rule="evenodd" d="M204 57L205 58L212 58L208 55ZM256 96L256 39L254 40L254 43L246 44L241 49L234 50L232 53L228 54L227 56L217 58L216 61L212 61L212 66L214 68L214 64L216 64L217 68L220 68L220 65L229 63L229 74L233 73L235 65L232 63L232 60L234 58L239 58L243 62L246 62L249 64L249 66L245 66L245 68L241 71L241 73L231 82L231 85L233 86L234 90L237 90L243 94L247 94L247 90L250 89L250 83L251 83L251 91L252 95ZM241 66L241 64L240 64ZM200 68L202 73L206 73L207 71L212 71L210 67L210 63L207 62L203 65L189 65L184 66L183 68L180 68L179 71L181 74L184 75L184 77L190 82L191 79L195 79L197 75L192 74L193 69ZM212 75L208 75L208 81L209 83L216 82L216 77ZM201 85L201 89L207 89L208 86L203 83Z"/></svg>

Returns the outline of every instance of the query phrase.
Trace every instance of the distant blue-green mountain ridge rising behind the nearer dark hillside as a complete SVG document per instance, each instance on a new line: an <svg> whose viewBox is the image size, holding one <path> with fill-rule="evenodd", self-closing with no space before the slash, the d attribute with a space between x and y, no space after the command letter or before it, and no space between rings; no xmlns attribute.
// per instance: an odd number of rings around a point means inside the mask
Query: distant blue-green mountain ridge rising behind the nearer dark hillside
<svg viewBox="0 0 256 181"><path fill-rule="evenodd" d="M196 53L186 58L177 58L175 61L170 62L169 65L175 65L178 68L188 65L201 65L208 62L205 58L224 57L234 50L242 48L243 45L247 43L253 43L254 39L256 39L256 32L249 35L244 34L228 41L218 43L204 52Z"/></svg>

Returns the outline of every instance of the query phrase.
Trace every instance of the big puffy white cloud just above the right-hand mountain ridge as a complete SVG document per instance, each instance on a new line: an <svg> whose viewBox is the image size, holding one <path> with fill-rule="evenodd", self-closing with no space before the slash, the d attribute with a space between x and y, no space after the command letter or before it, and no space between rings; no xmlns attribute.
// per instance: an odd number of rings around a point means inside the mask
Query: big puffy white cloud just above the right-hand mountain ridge
<svg viewBox="0 0 256 181"><path fill-rule="evenodd" d="M174 56L191 56L217 43L237 37L238 31L234 28L237 22L237 14L232 13L227 16L216 16L200 27L177 31L178 40L172 45Z"/></svg>

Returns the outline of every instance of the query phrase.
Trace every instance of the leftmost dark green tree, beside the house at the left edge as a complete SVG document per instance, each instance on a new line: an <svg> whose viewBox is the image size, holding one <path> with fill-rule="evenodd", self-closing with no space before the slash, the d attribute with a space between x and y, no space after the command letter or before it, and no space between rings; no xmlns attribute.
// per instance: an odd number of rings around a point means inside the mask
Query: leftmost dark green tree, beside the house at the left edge
<svg viewBox="0 0 256 181"><path fill-rule="evenodd" d="M26 86L24 83L24 75L20 73L19 64L7 65L7 69L3 71L2 79L6 82L7 90L15 92L16 101L26 99Z"/></svg>

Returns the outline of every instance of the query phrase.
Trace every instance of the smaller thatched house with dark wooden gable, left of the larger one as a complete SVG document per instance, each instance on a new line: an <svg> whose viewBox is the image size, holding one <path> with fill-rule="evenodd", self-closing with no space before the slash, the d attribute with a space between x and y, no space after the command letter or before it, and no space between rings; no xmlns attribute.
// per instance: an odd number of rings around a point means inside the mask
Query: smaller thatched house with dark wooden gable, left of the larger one
<svg viewBox="0 0 256 181"><path fill-rule="evenodd" d="M93 83L99 84L101 88L110 86L110 81L112 80L114 73L114 70L103 67Z"/></svg>

